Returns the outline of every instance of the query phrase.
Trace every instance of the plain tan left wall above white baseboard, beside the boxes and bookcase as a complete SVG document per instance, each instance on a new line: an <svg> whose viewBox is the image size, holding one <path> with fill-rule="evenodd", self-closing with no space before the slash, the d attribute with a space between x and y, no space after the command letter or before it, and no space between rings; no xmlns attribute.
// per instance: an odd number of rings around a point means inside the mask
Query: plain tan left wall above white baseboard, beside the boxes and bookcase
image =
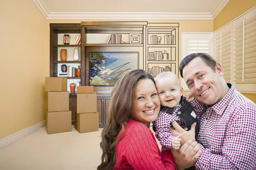
<svg viewBox="0 0 256 170"><path fill-rule="evenodd" d="M32 0L4 1L0 21L2 139L45 120L49 26Z"/></svg>

